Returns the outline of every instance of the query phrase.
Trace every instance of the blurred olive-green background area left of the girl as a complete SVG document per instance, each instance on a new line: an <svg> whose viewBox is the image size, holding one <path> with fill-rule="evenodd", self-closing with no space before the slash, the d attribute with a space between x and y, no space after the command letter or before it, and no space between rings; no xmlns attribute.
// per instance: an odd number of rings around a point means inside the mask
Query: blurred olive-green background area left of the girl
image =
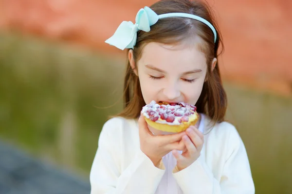
<svg viewBox="0 0 292 194"><path fill-rule="evenodd" d="M0 34L0 135L88 173L104 122L122 108L123 71L88 50Z"/></svg>

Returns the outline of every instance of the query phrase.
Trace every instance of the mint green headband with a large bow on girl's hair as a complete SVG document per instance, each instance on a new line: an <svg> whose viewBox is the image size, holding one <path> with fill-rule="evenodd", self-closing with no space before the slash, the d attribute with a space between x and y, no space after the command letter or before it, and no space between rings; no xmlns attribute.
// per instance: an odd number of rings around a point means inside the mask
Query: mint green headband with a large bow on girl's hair
<svg viewBox="0 0 292 194"><path fill-rule="evenodd" d="M136 16L135 24L133 24L131 21L123 21L116 30L116 32L114 32L114 34L105 42L121 50L133 49L136 44L137 32L139 30L149 32L150 26L155 24L158 21L158 19L166 17L188 17L191 19L201 21L202 23L209 26L209 28L213 31L214 42L216 42L217 39L216 30L213 27L213 25L204 18L186 13L169 13L157 15L149 7L144 7L144 9L142 8L139 10Z"/></svg>

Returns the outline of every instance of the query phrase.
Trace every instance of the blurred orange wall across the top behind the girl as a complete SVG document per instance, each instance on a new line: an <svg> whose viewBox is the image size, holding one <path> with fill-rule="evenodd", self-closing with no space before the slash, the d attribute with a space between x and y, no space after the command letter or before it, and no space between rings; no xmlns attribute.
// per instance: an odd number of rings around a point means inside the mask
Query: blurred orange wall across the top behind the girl
<svg viewBox="0 0 292 194"><path fill-rule="evenodd" d="M120 22L156 0L0 0L0 28L69 41L106 52ZM216 11L225 51L225 80L292 94L292 1L208 0Z"/></svg>

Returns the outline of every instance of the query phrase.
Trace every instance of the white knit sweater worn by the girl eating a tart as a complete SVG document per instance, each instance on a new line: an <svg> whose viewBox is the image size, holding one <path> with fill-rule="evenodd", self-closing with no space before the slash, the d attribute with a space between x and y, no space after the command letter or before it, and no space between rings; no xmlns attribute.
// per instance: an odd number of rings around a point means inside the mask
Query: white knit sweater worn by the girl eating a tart
<svg viewBox="0 0 292 194"><path fill-rule="evenodd" d="M237 130L227 122L210 129L209 123L205 117L199 127L205 134L199 159L172 172L171 152L158 168L140 150L137 120L108 120L91 167L91 194L254 194L247 153Z"/></svg>

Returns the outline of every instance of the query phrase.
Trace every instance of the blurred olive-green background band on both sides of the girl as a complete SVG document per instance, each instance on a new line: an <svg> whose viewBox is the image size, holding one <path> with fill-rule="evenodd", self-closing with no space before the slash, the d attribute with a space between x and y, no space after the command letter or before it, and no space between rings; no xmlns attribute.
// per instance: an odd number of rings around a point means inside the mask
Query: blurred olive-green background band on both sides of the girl
<svg viewBox="0 0 292 194"><path fill-rule="evenodd" d="M0 33L0 136L88 178L99 132L122 109L125 60ZM224 83L256 193L292 191L292 99ZM109 108L97 108L109 107Z"/></svg>

